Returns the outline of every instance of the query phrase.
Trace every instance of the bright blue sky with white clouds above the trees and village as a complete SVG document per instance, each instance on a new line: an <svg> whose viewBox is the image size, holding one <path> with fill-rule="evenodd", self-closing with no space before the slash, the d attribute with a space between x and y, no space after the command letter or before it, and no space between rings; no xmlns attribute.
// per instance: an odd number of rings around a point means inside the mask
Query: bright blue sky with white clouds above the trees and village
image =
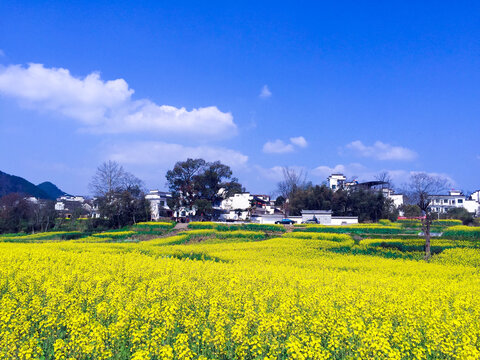
<svg viewBox="0 0 480 360"><path fill-rule="evenodd" d="M0 3L0 170L84 194L104 160L149 188L186 157L271 193L390 171L480 188L480 5Z"/></svg>

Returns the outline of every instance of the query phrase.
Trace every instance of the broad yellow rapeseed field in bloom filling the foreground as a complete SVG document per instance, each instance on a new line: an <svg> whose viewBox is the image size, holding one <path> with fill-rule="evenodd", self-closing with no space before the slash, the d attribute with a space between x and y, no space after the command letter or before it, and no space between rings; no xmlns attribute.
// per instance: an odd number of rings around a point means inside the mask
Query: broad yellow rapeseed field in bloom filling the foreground
<svg viewBox="0 0 480 360"><path fill-rule="evenodd" d="M328 236L0 243L0 358L480 358L480 250L426 263Z"/></svg>

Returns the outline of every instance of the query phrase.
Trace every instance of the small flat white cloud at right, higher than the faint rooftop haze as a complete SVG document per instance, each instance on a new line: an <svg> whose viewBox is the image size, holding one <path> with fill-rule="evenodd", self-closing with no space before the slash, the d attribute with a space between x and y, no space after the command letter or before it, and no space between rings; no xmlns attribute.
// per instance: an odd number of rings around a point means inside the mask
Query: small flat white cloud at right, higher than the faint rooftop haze
<svg viewBox="0 0 480 360"><path fill-rule="evenodd" d="M401 146L393 146L381 141L376 141L372 146L367 146L360 140L357 140L347 144L346 148L354 151L358 156L377 160L409 161L417 157L417 153L413 150Z"/></svg>

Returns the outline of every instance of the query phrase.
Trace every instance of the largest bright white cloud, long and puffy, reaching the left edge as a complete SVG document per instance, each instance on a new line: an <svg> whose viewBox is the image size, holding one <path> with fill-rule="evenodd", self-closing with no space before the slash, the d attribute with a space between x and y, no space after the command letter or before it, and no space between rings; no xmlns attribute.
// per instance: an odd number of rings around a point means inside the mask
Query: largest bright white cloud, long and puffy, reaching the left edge
<svg viewBox="0 0 480 360"><path fill-rule="evenodd" d="M0 94L16 98L25 106L77 120L93 132L212 138L236 133L232 114L216 106L188 111L147 99L133 100L133 93L125 80L104 81L96 72L80 78L67 69L45 68L41 64L0 67Z"/></svg>

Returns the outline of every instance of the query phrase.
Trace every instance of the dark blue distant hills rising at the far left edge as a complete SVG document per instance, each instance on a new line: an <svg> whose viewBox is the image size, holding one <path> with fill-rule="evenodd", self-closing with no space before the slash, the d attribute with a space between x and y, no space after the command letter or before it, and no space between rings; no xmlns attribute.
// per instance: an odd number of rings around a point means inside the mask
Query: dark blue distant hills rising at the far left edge
<svg viewBox="0 0 480 360"><path fill-rule="evenodd" d="M58 196L65 194L51 182L46 181L36 186L20 176L0 171L0 197L11 193L22 193L40 199L51 200L55 200Z"/></svg>

